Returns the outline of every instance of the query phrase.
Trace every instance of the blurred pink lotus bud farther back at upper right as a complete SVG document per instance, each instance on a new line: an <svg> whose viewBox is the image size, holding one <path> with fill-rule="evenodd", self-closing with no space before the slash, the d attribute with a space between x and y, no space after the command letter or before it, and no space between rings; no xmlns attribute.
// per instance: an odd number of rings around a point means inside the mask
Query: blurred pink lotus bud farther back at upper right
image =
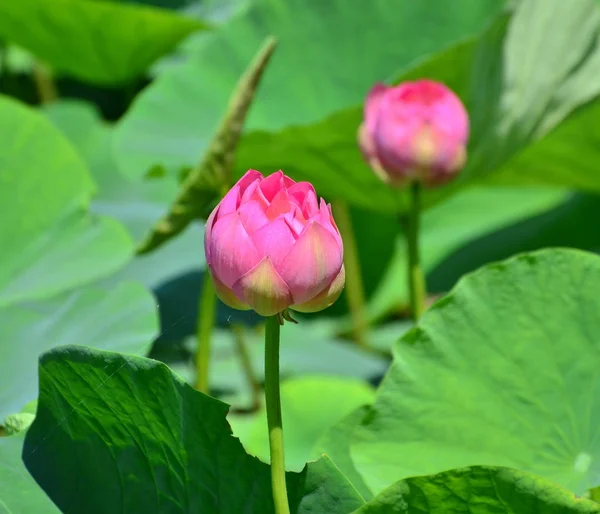
<svg viewBox="0 0 600 514"><path fill-rule="evenodd" d="M369 92L358 131L361 151L384 181L436 186L464 166L469 117L459 98L430 80Z"/></svg>

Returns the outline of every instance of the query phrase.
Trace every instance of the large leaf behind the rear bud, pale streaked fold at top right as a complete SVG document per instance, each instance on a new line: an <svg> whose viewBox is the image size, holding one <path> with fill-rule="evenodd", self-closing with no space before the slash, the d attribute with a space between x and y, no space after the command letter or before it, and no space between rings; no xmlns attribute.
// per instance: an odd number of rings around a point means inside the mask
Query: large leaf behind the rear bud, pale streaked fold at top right
<svg viewBox="0 0 600 514"><path fill-rule="evenodd" d="M501 16L481 37L397 79L445 82L464 100L471 117L465 170L449 186L429 191L426 204L496 173L507 173L513 184L600 189L600 175L590 172L590 162L598 158L594 131L588 134L595 116L573 122L566 132L551 132L600 93L594 80L600 73L599 30L595 0L522 0L512 16ZM330 196L372 209L403 210L404 196L378 184L359 154L356 131L361 118L362 107L355 107L310 125L250 133L240 147L238 171L249 163L265 170L281 167ZM542 144L545 137L549 141ZM550 147L558 150L552 153Z"/></svg>

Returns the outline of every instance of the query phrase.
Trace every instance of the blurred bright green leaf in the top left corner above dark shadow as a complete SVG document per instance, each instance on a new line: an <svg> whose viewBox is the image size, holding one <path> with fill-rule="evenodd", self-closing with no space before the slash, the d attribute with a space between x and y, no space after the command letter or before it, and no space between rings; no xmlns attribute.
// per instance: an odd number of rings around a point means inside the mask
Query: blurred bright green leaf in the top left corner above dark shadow
<svg viewBox="0 0 600 514"><path fill-rule="evenodd" d="M192 32L197 20L104 0L19 0L0 5L0 37L58 71L99 84L135 78Z"/></svg>

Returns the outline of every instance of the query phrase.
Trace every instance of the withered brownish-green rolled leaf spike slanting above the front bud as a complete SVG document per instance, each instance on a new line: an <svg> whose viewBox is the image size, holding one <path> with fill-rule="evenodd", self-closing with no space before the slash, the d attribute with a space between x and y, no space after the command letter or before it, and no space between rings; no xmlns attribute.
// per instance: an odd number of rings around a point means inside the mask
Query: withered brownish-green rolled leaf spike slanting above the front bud
<svg viewBox="0 0 600 514"><path fill-rule="evenodd" d="M193 220L206 219L215 201L231 186L235 150L244 121L276 44L274 37L268 37L241 76L202 160L183 179L169 212L140 244L138 255L155 250L182 232Z"/></svg>

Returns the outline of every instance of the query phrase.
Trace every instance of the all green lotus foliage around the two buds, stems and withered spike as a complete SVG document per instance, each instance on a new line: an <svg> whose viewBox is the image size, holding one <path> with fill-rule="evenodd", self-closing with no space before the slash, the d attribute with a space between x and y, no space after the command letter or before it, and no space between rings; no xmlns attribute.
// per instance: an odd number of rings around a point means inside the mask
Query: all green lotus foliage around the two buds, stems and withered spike
<svg viewBox="0 0 600 514"><path fill-rule="evenodd" d="M281 168L349 210L369 322L356 344L344 294L284 327L293 512L599 512L597 0L22 0L0 6L0 513L272 512L262 320L218 305L202 395L202 222L135 253L269 35L234 178ZM472 136L425 196L413 328L405 192L356 130L374 82L420 77Z"/></svg>

